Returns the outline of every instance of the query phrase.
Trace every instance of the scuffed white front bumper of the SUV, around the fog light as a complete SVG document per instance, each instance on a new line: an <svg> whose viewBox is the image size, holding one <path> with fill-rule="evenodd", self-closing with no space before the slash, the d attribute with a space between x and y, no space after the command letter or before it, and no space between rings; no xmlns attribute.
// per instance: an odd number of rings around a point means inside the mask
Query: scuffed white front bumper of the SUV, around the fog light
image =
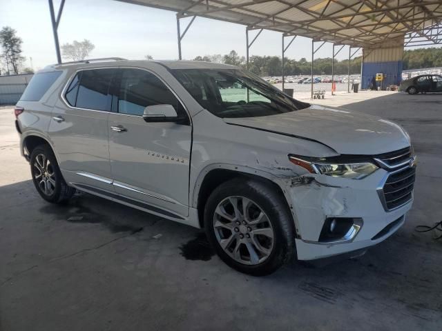
<svg viewBox="0 0 442 331"><path fill-rule="evenodd" d="M385 211L378 192L386 170L378 169L361 180L308 174L294 179L289 188L298 238L298 259L312 260L361 250L390 237L405 222L412 201ZM349 239L320 242L327 218L354 218L361 221Z"/></svg>

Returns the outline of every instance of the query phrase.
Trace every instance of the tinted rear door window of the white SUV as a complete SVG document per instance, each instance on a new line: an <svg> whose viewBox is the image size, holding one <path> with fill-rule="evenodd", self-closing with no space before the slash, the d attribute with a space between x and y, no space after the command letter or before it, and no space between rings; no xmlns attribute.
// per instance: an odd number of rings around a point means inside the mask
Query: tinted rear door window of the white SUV
<svg viewBox="0 0 442 331"><path fill-rule="evenodd" d="M82 71L81 77L79 77L75 107L110 111L112 97L109 93L109 87L111 86L114 73L115 69ZM70 85L72 85L72 83ZM73 91L75 91L75 86L72 87ZM68 96L66 96L66 99L67 98ZM71 100L73 98L74 97L72 97Z"/></svg>

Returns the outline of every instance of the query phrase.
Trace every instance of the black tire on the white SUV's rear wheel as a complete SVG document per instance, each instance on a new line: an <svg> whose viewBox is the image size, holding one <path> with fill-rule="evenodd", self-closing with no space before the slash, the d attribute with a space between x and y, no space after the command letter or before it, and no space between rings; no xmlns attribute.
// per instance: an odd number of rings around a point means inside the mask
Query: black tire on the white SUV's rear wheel
<svg viewBox="0 0 442 331"><path fill-rule="evenodd" d="M39 161L41 161L42 156L44 156L43 160L47 160L46 165L48 165L48 169L50 170L46 171L46 174L50 172L50 178L52 181L55 181L55 185L52 183L50 184L50 192L45 192L45 185L41 185L41 181L39 181L39 179L42 178L41 176L45 176L45 174L40 172L39 169L41 167L39 167L39 163L37 162L37 157L39 158ZM43 163L45 165L44 161ZM52 149L48 145L39 145L32 150L32 153L30 154L30 172L37 192L39 192L40 196L48 202L65 203L75 193L75 188L68 186L66 181L64 181L57 163L57 159L55 158Z"/></svg>

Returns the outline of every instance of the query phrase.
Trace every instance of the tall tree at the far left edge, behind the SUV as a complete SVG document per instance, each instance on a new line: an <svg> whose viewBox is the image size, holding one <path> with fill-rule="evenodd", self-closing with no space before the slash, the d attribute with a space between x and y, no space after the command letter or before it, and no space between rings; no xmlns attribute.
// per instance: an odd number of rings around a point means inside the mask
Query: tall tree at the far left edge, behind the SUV
<svg viewBox="0 0 442 331"><path fill-rule="evenodd" d="M9 73L10 68L15 74L19 73L19 66L24 61L21 56L21 44L23 41L17 37L17 31L10 26L5 26L0 30L0 46L3 49L1 58L6 62L6 71Z"/></svg>

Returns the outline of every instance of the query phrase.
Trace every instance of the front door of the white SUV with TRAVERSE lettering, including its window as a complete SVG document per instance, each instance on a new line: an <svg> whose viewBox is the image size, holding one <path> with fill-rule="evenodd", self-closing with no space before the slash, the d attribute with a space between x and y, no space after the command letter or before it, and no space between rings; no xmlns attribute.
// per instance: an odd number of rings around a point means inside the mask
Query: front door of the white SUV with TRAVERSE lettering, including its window
<svg viewBox="0 0 442 331"><path fill-rule="evenodd" d="M109 154L117 194L174 217L189 215L190 124L147 123L146 106L172 105L188 117L181 101L155 74L119 69L109 114ZM158 209L160 208L160 209ZM159 211L160 210L160 211Z"/></svg>

